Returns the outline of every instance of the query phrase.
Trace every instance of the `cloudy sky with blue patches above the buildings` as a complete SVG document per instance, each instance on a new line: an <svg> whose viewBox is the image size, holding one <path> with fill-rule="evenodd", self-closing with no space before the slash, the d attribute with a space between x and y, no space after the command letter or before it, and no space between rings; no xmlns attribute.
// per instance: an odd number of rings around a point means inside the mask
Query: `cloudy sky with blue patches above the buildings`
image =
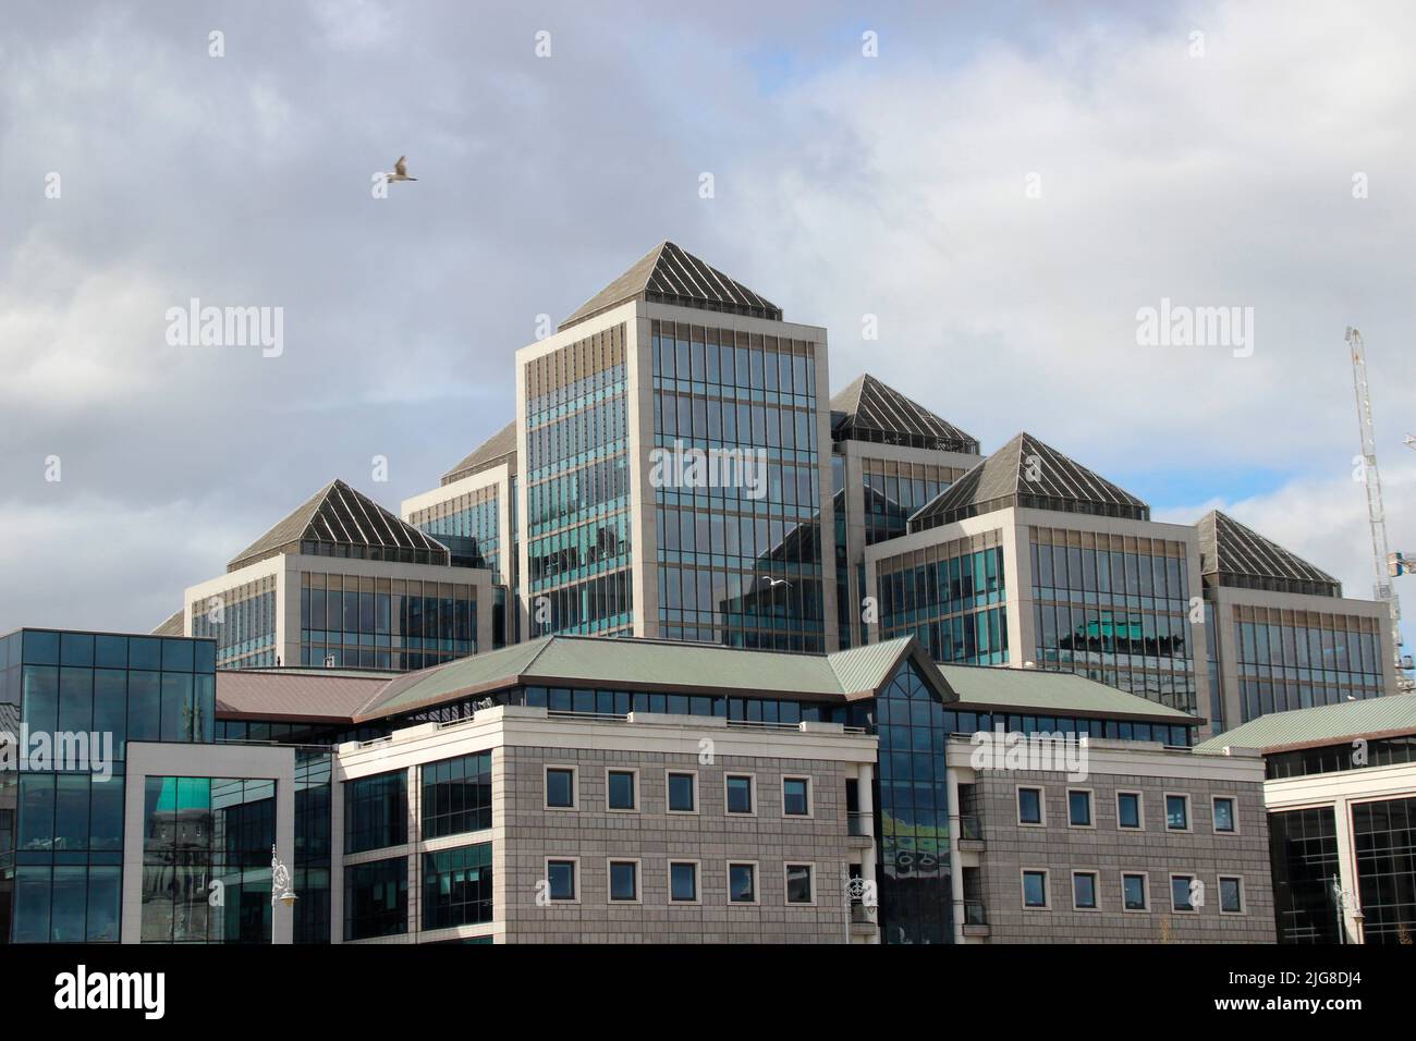
<svg viewBox="0 0 1416 1041"><path fill-rule="evenodd" d="M664 238L827 326L834 388L1369 595L1342 331L1416 551L1416 8L869 7L10 10L0 632L150 629L336 476L396 510L511 418L537 316ZM283 353L170 346L191 297L283 307ZM1252 355L1138 344L1163 299L1252 307Z"/></svg>

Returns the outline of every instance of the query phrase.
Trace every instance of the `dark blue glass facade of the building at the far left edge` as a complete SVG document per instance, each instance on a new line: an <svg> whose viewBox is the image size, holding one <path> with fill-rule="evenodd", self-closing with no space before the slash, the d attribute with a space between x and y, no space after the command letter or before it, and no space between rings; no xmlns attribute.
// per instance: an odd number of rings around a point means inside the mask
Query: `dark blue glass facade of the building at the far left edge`
<svg viewBox="0 0 1416 1041"><path fill-rule="evenodd" d="M0 707L31 741L99 742L86 763L0 772L0 942L118 942L127 742L212 739L215 646L23 629L0 637Z"/></svg>

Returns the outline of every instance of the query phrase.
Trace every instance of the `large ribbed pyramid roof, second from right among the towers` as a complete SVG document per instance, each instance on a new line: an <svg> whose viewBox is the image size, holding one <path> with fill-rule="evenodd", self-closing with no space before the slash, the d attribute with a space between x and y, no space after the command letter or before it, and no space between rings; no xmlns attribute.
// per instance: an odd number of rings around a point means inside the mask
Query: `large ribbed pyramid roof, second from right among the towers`
<svg viewBox="0 0 1416 1041"><path fill-rule="evenodd" d="M1130 491L1022 432L910 517L909 530L953 524L1010 506L1150 520L1150 506Z"/></svg>

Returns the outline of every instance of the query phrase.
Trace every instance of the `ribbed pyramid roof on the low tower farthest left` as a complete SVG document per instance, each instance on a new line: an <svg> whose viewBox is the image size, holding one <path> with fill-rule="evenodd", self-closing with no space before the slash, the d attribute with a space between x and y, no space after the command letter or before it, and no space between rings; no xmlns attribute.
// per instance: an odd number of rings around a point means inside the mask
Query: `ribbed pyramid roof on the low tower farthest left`
<svg viewBox="0 0 1416 1041"><path fill-rule="evenodd" d="M300 542L378 550L377 554L365 552L374 559L398 559L398 551L404 550L409 551L411 562L413 551L432 554L435 562L442 564L450 558L447 547L438 540L399 520L343 480L331 480L234 557L227 571L244 568L278 552L299 552Z"/></svg>

